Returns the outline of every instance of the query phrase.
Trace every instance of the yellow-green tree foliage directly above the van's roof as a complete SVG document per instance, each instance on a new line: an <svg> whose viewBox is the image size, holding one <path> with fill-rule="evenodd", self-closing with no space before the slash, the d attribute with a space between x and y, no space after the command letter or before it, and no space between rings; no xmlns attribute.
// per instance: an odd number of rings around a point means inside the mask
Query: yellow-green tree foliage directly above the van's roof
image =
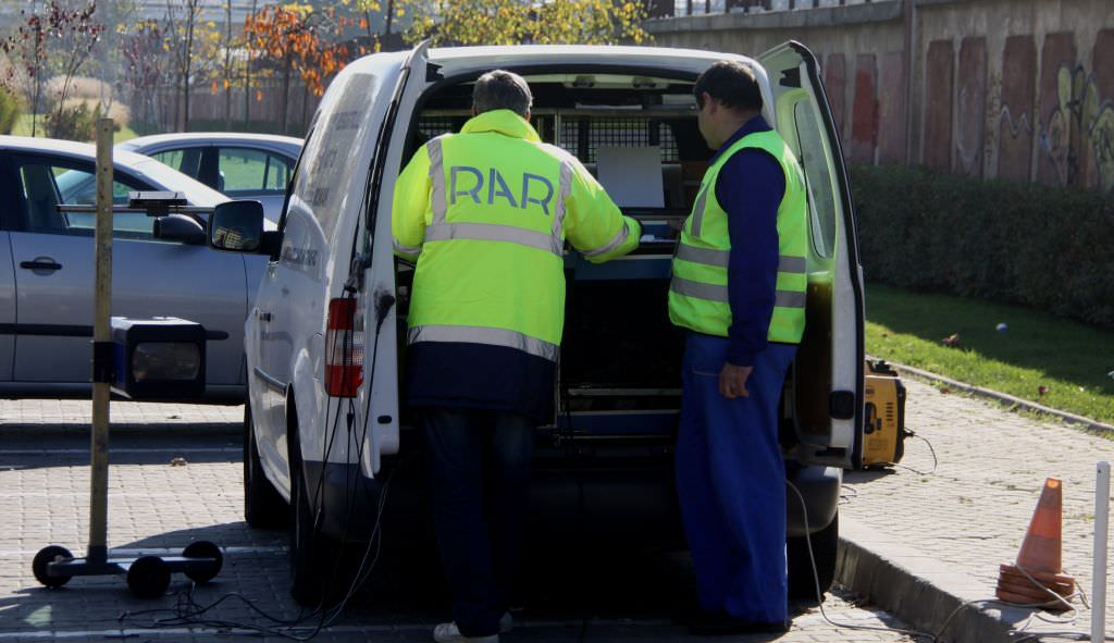
<svg viewBox="0 0 1114 643"><path fill-rule="evenodd" d="M645 0L399 0L408 42L612 45L647 41Z"/></svg>

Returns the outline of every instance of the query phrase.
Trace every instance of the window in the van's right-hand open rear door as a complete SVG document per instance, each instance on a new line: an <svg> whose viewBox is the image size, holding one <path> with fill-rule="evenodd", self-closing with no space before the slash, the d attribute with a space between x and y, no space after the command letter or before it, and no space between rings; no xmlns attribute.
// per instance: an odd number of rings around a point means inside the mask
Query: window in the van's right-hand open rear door
<svg viewBox="0 0 1114 643"><path fill-rule="evenodd" d="M802 100L793 107L793 124L800 142L799 160L809 191L812 247L818 255L829 257L836 249L836 196L830 178L834 172L829 168L824 154L820 116L810 101Z"/></svg>

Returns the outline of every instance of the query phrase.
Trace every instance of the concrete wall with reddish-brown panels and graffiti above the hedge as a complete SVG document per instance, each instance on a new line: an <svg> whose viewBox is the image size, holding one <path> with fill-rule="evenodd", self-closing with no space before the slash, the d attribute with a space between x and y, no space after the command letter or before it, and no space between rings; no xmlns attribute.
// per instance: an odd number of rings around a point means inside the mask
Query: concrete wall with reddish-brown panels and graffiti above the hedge
<svg viewBox="0 0 1114 643"><path fill-rule="evenodd" d="M657 45L817 53L849 158L1114 191L1112 0L882 0L654 20Z"/></svg>

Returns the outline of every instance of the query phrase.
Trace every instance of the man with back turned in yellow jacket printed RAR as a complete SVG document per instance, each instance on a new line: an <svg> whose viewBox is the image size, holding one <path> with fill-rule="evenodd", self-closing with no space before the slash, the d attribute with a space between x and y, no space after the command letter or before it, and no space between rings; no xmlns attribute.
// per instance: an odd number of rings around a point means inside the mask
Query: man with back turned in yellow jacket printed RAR
<svg viewBox="0 0 1114 643"><path fill-rule="evenodd" d="M531 103L521 77L485 74L473 117L423 145L394 188L395 253L417 260L407 402L452 591L439 643L496 642L511 625L535 427L554 413L565 241L598 263L641 236L576 157L541 143Z"/></svg>

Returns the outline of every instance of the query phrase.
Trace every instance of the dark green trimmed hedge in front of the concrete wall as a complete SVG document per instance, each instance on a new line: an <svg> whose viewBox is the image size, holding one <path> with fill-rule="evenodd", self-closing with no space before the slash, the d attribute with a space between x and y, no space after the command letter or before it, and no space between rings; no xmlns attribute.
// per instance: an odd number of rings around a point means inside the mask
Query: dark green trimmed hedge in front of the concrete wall
<svg viewBox="0 0 1114 643"><path fill-rule="evenodd" d="M871 166L851 192L868 281L1114 329L1114 195Z"/></svg>

